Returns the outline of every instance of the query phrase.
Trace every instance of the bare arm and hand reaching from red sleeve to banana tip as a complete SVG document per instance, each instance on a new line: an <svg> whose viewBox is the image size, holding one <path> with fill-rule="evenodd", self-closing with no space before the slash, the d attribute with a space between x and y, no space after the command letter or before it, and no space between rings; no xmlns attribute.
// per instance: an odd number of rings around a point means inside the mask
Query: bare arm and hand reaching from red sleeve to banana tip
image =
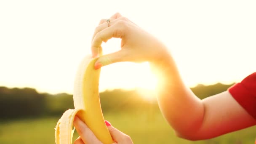
<svg viewBox="0 0 256 144"><path fill-rule="evenodd" d="M210 139L256 125L228 91L200 100L187 87L168 48L157 38L116 13L100 21L92 38L93 57L101 53L101 43L121 38L121 50L100 56L95 69L121 61L148 61L158 76L157 101L176 135L189 140ZM81 136L81 135L80 135Z"/></svg>

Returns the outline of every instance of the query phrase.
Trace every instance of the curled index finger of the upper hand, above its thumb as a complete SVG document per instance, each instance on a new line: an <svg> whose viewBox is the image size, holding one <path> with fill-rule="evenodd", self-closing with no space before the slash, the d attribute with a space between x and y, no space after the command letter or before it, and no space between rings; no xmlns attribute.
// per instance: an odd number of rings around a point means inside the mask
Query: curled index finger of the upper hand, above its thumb
<svg viewBox="0 0 256 144"><path fill-rule="evenodd" d="M95 35L91 43L93 58L99 54L99 47L104 40L109 40L112 37L123 37L125 25L125 21L117 21L115 24L113 24L113 27L107 27Z"/></svg>

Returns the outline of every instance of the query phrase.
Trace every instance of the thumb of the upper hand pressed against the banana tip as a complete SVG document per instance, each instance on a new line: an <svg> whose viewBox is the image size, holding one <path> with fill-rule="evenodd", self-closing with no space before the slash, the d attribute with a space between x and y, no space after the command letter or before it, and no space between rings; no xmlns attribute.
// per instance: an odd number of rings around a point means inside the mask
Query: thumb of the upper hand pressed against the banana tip
<svg viewBox="0 0 256 144"><path fill-rule="evenodd" d="M128 61L128 56L128 50L126 48L123 48L120 51L100 56L95 62L94 67L95 69L99 69L103 66L116 62Z"/></svg>

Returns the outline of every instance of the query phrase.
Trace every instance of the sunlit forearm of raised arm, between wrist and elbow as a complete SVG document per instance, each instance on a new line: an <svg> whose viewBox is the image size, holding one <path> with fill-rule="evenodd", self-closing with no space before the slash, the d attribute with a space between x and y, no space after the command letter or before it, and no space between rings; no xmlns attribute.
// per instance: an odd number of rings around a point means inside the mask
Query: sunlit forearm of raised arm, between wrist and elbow
<svg viewBox="0 0 256 144"><path fill-rule="evenodd" d="M165 119L181 137L195 133L204 116L202 101L181 79L173 58L169 55L151 63L158 77L157 100Z"/></svg>

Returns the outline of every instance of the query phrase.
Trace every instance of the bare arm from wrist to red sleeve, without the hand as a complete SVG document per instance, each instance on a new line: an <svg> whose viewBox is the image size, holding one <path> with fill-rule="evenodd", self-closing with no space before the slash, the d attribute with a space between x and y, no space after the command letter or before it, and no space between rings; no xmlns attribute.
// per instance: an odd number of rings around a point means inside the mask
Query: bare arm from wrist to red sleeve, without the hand
<svg viewBox="0 0 256 144"><path fill-rule="evenodd" d="M157 100L159 107L184 139L210 139L256 124L228 91L200 100L182 81L171 56L152 62L159 77Z"/></svg>

